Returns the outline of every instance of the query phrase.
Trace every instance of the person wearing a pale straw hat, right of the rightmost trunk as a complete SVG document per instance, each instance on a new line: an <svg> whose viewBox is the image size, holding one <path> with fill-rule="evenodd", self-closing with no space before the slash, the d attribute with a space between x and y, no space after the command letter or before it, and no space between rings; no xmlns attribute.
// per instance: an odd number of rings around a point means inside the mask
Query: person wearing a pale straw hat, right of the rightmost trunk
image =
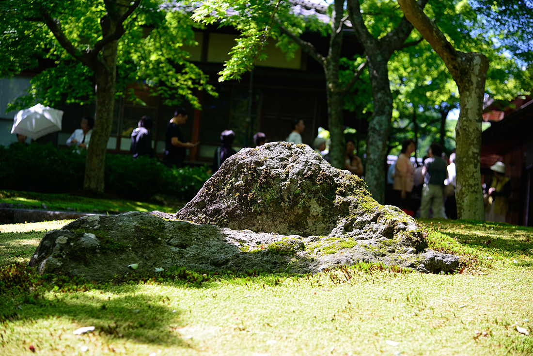
<svg viewBox="0 0 533 356"><path fill-rule="evenodd" d="M487 194L484 195L485 220L505 223L511 195L511 179L505 175L505 164L496 162L490 167L494 172Z"/></svg>

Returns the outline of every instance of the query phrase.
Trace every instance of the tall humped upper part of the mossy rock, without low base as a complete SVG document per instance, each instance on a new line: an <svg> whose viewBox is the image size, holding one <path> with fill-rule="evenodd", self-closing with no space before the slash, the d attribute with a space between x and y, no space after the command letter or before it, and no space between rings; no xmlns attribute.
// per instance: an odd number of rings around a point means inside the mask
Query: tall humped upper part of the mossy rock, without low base
<svg viewBox="0 0 533 356"><path fill-rule="evenodd" d="M286 142L230 157L175 218L232 230L386 239L427 248L416 221L378 204L362 179L333 168L308 145Z"/></svg>

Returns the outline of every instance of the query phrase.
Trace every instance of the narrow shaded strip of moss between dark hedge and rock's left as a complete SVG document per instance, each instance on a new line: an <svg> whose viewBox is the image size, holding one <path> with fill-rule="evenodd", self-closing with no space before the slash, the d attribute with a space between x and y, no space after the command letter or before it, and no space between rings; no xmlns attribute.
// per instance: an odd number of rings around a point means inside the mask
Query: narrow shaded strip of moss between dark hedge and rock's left
<svg viewBox="0 0 533 356"><path fill-rule="evenodd" d="M173 201L173 204L162 205L133 200L109 198L95 198L87 196L64 194L33 193L21 191L0 190L0 201L15 205L21 209L42 209L42 204L48 210L76 210L82 212L126 212L126 211L154 211L159 210L174 213L182 205Z"/></svg>

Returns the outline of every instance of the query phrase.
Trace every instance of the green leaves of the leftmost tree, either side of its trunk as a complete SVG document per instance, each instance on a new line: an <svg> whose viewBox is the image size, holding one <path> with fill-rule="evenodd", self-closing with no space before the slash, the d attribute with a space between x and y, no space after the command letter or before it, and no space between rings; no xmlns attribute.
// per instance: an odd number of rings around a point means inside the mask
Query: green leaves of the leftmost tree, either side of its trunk
<svg viewBox="0 0 533 356"><path fill-rule="evenodd" d="M139 82L149 85L165 105L189 101L199 108L193 93L197 89L216 96L208 76L188 61L189 53L182 48L198 45L192 29L201 25L190 19L185 6L171 5L164 0L143 0L124 22L124 34L118 39L116 97L130 99L126 85ZM103 0L2 2L0 75L42 70L32 78L28 94L8 110L31 106L34 101L48 106L93 102L94 68L80 58L102 41L100 20L114 11L115 2ZM73 46L76 57L52 34L44 14L61 24L64 41Z"/></svg>

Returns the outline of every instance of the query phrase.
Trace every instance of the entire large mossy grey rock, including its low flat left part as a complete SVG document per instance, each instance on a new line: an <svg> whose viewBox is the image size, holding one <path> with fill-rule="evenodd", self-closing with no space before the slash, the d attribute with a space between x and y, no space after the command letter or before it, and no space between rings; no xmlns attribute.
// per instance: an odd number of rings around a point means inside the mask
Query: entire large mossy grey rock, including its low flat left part
<svg viewBox="0 0 533 356"><path fill-rule="evenodd" d="M426 248L416 221L374 201L361 179L309 146L271 143L230 157L175 215L90 216L47 232L30 265L96 281L173 266L295 273L359 262L432 273L459 266L457 256Z"/></svg>

